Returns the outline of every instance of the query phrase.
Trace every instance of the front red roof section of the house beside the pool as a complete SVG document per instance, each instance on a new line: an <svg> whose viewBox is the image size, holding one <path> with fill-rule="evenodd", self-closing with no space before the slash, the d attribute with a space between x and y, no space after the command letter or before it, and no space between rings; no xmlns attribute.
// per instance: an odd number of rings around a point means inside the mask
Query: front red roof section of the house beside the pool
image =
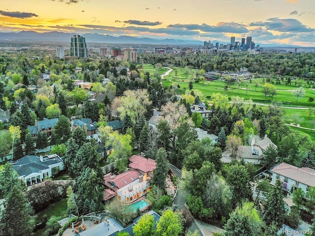
<svg viewBox="0 0 315 236"><path fill-rule="evenodd" d="M104 184L112 190L117 191L136 180L139 176L141 176L141 173L138 171L126 171L118 176L108 173L104 176Z"/></svg>

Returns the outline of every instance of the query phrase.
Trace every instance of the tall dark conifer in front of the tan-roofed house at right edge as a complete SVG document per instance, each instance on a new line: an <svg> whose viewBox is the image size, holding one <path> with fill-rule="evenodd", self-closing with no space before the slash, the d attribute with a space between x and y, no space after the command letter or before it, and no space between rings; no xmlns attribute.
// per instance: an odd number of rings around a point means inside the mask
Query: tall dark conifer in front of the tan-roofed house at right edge
<svg viewBox="0 0 315 236"><path fill-rule="evenodd" d="M282 182L277 180L276 185L271 187L271 190L267 195L267 202L265 204L265 212L263 216L263 220L267 225L275 224L278 229L284 224L285 216L282 189Z"/></svg>

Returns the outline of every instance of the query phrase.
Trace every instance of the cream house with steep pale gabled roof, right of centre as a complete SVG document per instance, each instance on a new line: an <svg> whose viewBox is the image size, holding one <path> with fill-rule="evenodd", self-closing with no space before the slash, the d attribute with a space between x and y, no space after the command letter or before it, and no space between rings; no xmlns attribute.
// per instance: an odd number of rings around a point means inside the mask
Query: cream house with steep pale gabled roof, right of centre
<svg viewBox="0 0 315 236"><path fill-rule="evenodd" d="M264 139L261 139L258 135L252 138L251 146L240 146L238 150L239 158L243 158L245 162L252 162L254 164L261 164L263 159L263 151L266 150L269 145L277 146L267 137L265 134Z"/></svg>

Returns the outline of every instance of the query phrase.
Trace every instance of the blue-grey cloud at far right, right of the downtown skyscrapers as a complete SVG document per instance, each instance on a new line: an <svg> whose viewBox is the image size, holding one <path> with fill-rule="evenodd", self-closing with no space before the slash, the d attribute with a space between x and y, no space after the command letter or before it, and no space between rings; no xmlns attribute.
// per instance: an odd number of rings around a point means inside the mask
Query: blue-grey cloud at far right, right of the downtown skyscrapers
<svg viewBox="0 0 315 236"><path fill-rule="evenodd" d="M260 26L279 32L313 32L315 29L303 25L296 19L269 18L265 22L252 22L249 26Z"/></svg>

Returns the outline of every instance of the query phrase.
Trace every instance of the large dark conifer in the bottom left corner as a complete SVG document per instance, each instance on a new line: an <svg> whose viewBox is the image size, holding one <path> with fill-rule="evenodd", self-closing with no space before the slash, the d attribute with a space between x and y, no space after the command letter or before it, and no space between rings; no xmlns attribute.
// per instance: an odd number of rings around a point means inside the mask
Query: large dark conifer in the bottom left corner
<svg viewBox="0 0 315 236"><path fill-rule="evenodd" d="M1 218L3 235L31 235L35 225L31 213L32 208L30 208L21 188L14 185L4 201Z"/></svg>

